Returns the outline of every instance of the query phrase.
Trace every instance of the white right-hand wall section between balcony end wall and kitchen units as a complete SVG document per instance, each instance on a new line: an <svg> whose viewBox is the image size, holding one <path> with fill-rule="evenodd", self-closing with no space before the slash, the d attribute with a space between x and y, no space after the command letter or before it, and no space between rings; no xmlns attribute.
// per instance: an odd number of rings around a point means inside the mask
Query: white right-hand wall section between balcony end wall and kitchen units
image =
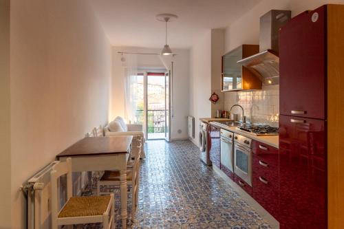
<svg viewBox="0 0 344 229"><path fill-rule="evenodd" d="M198 145L199 119L211 117L211 30L193 45L190 60L189 113L195 117L195 138L191 140Z"/></svg>

